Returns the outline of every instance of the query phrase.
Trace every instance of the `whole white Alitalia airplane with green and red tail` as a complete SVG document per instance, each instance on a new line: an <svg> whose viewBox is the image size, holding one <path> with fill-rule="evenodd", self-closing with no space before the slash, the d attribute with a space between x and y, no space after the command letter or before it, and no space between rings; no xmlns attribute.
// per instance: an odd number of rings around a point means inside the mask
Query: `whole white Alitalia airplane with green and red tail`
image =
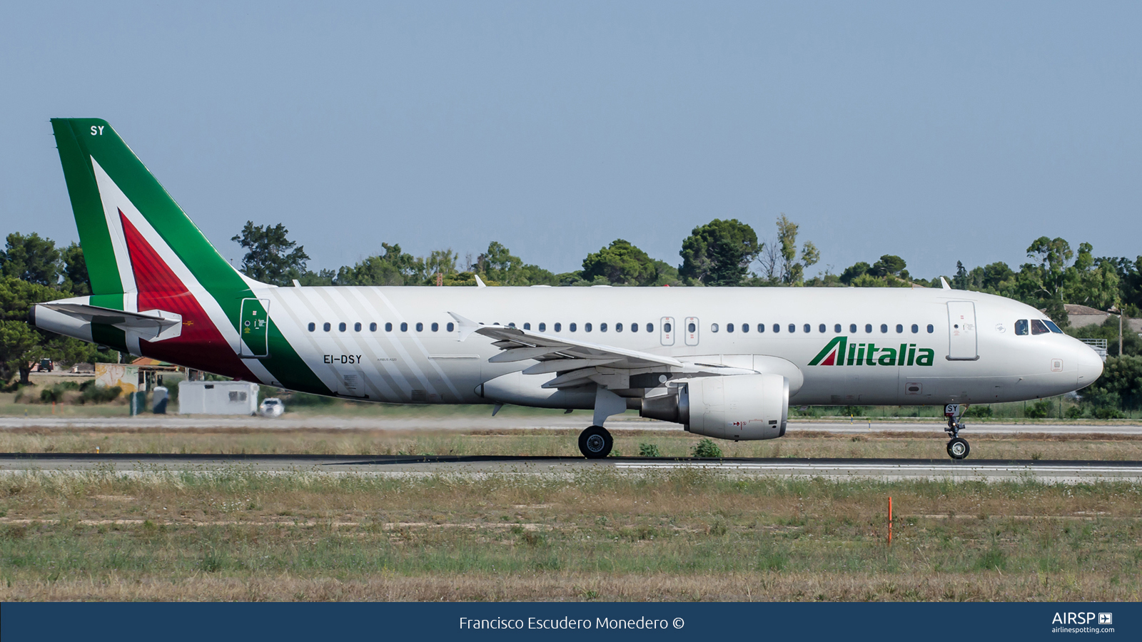
<svg viewBox="0 0 1142 642"><path fill-rule="evenodd" d="M723 440L789 406L944 406L1094 383L1101 358L1040 311L942 288L278 287L235 270L104 120L53 119L90 296L33 326L235 379L381 403L628 409Z"/></svg>

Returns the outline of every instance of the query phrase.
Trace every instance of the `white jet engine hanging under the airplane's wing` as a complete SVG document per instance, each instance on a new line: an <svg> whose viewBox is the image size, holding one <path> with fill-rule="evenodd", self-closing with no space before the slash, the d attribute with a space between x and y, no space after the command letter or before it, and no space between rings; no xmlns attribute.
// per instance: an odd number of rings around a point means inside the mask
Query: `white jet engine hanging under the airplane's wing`
<svg viewBox="0 0 1142 642"><path fill-rule="evenodd" d="M717 439L774 439L789 420L789 379L781 375L733 375L675 379L678 392L644 399L642 417L685 424Z"/></svg>

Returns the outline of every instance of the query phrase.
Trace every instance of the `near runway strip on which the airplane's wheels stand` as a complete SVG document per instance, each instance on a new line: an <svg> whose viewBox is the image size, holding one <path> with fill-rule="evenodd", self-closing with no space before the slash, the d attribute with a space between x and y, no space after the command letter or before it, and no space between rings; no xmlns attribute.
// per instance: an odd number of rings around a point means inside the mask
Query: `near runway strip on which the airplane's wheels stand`
<svg viewBox="0 0 1142 642"><path fill-rule="evenodd" d="M965 459L695 459L493 456L304 456L304 455L72 455L0 454L0 474L33 472L82 474L116 472L150 475L164 472L320 473L385 476L486 476L576 474L582 471L654 474L701 470L738 476L823 478L829 480L951 480L1089 483L1142 482L1142 462Z"/></svg>

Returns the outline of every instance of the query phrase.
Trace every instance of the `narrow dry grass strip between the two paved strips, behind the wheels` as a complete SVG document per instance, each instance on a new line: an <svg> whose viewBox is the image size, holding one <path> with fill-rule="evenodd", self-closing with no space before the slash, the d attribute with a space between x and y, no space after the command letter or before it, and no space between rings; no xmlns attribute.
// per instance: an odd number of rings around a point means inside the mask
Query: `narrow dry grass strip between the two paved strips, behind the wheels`
<svg viewBox="0 0 1142 642"><path fill-rule="evenodd" d="M367 430L74 430L24 428L0 433L0 452L525 455L578 457L577 431L505 430L396 432ZM1140 460L1142 435L972 435L973 459ZM665 457L689 456L700 439L683 431L616 431L616 454L636 456L640 443ZM726 457L943 458L947 436L931 433L798 433L770 441L719 441Z"/></svg>

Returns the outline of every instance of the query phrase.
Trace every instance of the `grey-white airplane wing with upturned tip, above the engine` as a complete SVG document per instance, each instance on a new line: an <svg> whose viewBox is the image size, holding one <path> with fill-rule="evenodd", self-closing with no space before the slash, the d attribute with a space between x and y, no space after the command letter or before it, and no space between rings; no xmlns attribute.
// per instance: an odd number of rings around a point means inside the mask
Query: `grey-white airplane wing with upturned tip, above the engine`
<svg viewBox="0 0 1142 642"><path fill-rule="evenodd" d="M534 360L538 363L525 368L524 375L558 372L558 376L544 384L545 388L574 387L592 380L598 383L616 374L629 376L657 371L702 376L753 372L721 364L690 363L661 354L555 337L510 326L481 326L459 314L449 314L459 322L460 340L472 332L493 339L492 345L502 352L489 359L489 362Z"/></svg>

